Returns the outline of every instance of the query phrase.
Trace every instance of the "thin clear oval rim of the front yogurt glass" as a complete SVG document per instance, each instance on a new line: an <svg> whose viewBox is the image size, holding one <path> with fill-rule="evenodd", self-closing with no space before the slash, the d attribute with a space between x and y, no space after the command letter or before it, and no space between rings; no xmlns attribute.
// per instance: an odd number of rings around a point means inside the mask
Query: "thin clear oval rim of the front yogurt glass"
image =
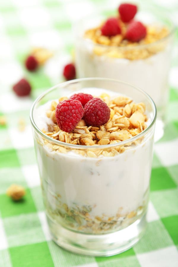
<svg viewBox="0 0 178 267"><path fill-rule="evenodd" d="M137 134L136 136L133 136L132 138L130 139L127 139L125 141L121 141L117 144L107 144L107 145L92 145L92 146L84 146L84 145L76 145L76 144L69 144L69 143L65 143L65 142L62 142L62 141L59 141L59 140L56 140L56 139L53 139L52 137L50 136L47 136L46 134L44 134L36 125L35 121L34 121L34 117L33 117L33 111L34 111L34 108L36 106L36 104L44 97L46 96L48 93L50 93L51 91L55 90L56 88L62 88L63 86L66 86L66 85L70 85L70 84L75 84L77 82L82 82L82 81L110 81L110 82L115 82L115 83L122 83L122 84L125 84L125 85L128 85L134 89L136 89L137 91L141 92L142 94L144 94L144 96L146 96L146 98L150 101L150 103L152 104L152 109L153 109L153 117L152 117L152 120L150 122L150 124L148 125L148 127L146 129L144 129L144 131L142 131L141 133ZM106 148L114 148L114 147L117 147L118 145L124 145L124 144L127 144L127 143L130 143L130 142L134 142L136 141L137 139L141 138L142 136L144 136L151 128L152 126L154 125L155 121L156 121L156 116L157 116L157 109L156 109L156 105L154 103L154 101L152 100L152 98L142 89L128 83L128 82L123 82L121 80L115 80L115 79L108 79L108 78L81 78L81 79L75 79L75 80L70 80L70 81L66 81L66 82L62 82L62 83L59 83L53 87L51 87L50 89L46 90L44 93L42 93L41 95L39 95L36 100L34 101L34 103L32 104L32 107L30 109L30 121L31 121L31 124L33 126L33 128L38 132L38 134L40 134L43 138L47 139L48 141L50 142L53 142L57 145L60 145L60 146L64 146L64 147L67 147L67 148L72 148L72 149L80 149L80 150L84 150L84 149L92 149L92 150L97 150L97 149L106 149Z"/></svg>

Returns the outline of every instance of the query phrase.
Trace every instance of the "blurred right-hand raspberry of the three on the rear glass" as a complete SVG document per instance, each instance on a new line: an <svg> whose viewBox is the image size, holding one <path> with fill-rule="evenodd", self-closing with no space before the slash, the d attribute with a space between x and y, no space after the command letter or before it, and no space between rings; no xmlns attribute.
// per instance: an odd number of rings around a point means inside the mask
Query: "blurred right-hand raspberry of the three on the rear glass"
<svg viewBox="0 0 178 267"><path fill-rule="evenodd" d="M139 21L132 21L125 34L125 38L131 42L139 42L147 34L146 27Z"/></svg>

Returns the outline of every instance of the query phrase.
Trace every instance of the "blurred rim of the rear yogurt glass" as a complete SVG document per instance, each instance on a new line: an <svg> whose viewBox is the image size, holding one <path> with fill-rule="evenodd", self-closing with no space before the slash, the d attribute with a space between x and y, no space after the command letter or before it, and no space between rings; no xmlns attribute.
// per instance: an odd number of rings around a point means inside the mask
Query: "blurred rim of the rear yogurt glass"
<svg viewBox="0 0 178 267"><path fill-rule="evenodd" d="M88 17L82 18L82 19L80 19L80 20L78 20L78 21L76 22L76 25L80 25L81 22L82 22L83 20L87 20L87 19L90 19L90 18L92 18L92 17L94 17L94 16L88 16ZM116 45L103 45L103 44L97 44L97 43L94 43L91 39L89 39L89 38L84 38L83 35L80 36L79 34L76 34L76 37L79 38L82 42L85 42L85 43L88 43L88 44L93 44L93 45L95 45L95 46L102 47L102 48L115 48L115 49L117 48L117 49L119 49L119 50L133 50L133 49L150 48L150 47L153 46L153 45L159 45L161 42L166 41L167 39L169 39L171 36L174 35L174 33L175 33L177 27L176 27L176 25L173 23L173 21L170 20L170 18L166 18L166 19L168 19L169 22L171 23L171 29L170 29L170 31L169 31L169 34L166 35L165 37L163 37L162 39L159 39L159 40L157 40L157 41L155 41L155 42L152 42L152 43L150 43L150 44L134 45L134 46L125 46L125 47L124 47L124 46L116 46ZM75 27L76 27L76 25L75 25ZM78 31L77 31L77 33L78 33Z"/></svg>

